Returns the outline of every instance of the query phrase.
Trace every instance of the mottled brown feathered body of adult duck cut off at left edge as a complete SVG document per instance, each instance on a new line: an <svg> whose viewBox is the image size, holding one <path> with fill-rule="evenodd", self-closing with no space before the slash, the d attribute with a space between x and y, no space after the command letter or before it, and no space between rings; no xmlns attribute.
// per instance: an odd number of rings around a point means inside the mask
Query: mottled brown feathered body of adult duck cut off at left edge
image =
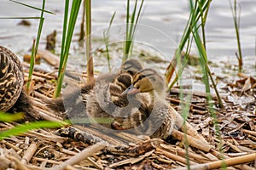
<svg viewBox="0 0 256 170"><path fill-rule="evenodd" d="M24 120L38 119L38 112L35 111L23 84L20 60L8 48L0 46L0 111L24 112Z"/></svg>

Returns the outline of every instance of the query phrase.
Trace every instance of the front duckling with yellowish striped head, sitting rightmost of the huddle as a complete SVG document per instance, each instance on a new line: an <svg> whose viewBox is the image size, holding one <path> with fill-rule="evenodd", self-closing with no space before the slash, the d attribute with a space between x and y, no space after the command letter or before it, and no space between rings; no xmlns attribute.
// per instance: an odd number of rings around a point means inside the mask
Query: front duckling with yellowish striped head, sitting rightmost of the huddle
<svg viewBox="0 0 256 170"><path fill-rule="evenodd" d="M122 94L133 96L142 105L131 116L122 113L114 118L112 127L117 130L147 134L152 138L166 139L174 126L172 107L163 99L165 82L153 69L143 69L135 75L132 84ZM144 96L149 95L149 100ZM127 113L126 113L127 114Z"/></svg>

